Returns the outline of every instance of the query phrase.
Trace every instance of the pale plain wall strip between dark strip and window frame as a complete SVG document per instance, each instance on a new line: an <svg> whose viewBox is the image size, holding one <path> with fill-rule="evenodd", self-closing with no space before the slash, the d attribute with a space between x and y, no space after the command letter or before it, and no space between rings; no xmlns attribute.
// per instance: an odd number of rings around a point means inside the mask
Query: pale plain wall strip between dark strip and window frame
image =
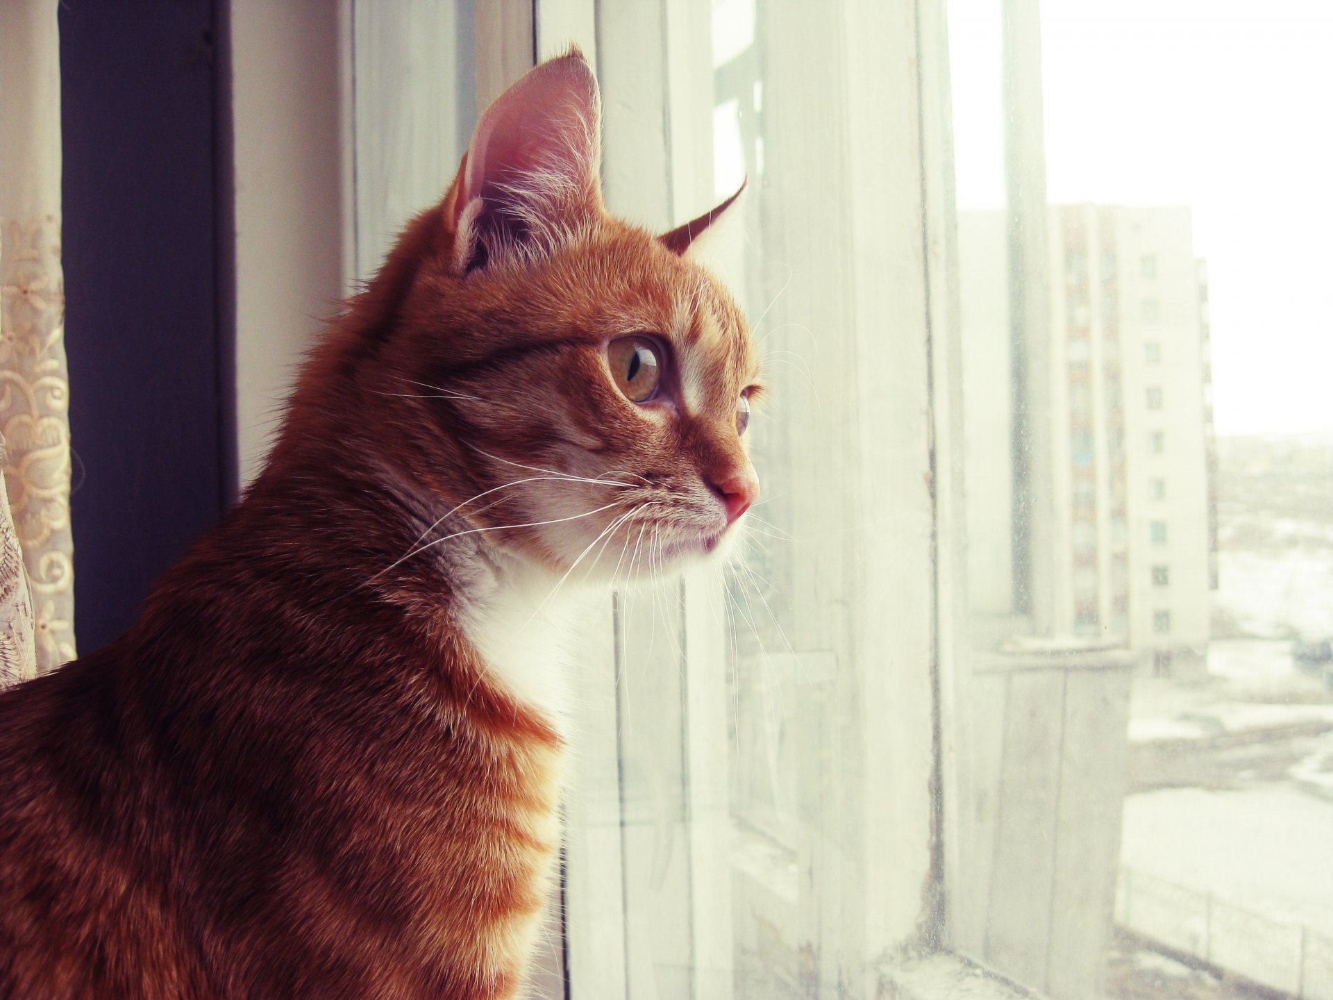
<svg viewBox="0 0 1333 1000"><path fill-rule="evenodd" d="M344 295L351 247L337 0L232 0L236 435L259 472L301 352Z"/></svg>

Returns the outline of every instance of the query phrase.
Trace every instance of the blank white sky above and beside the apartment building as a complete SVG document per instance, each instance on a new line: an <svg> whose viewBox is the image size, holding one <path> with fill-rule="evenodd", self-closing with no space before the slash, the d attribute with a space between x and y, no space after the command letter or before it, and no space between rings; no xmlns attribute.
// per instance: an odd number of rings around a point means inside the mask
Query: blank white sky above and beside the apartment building
<svg viewBox="0 0 1333 1000"><path fill-rule="evenodd" d="M1189 205L1218 433L1333 432L1333 0L1041 0L1041 25L1048 199ZM950 0L949 35L958 204L997 208L1000 0Z"/></svg>

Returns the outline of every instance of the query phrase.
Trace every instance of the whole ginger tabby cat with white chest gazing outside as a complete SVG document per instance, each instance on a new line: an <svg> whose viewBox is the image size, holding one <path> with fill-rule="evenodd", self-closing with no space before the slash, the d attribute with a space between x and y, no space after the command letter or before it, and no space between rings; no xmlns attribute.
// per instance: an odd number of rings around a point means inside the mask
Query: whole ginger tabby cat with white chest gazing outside
<svg viewBox="0 0 1333 1000"><path fill-rule="evenodd" d="M521 991L565 595L636 544L716 559L758 491L714 213L608 216L599 108L577 51L501 96L241 503L124 636L0 693L0 997Z"/></svg>

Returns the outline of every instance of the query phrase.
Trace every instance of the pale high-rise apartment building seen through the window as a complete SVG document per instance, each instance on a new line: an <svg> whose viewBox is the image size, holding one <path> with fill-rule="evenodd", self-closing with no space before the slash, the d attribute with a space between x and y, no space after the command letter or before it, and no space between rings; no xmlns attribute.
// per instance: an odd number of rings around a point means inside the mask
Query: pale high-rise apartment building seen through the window
<svg viewBox="0 0 1333 1000"><path fill-rule="evenodd" d="M1049 476L1057 635L1201 668L1216 585L1208 285L1188 208L1048 213ZM1012 611L1013 332L1006 223L960 216L973 608ZM1029 373L1037 375L1040 373ZM1021 497L1020 497L1021 501Z"/></svg>

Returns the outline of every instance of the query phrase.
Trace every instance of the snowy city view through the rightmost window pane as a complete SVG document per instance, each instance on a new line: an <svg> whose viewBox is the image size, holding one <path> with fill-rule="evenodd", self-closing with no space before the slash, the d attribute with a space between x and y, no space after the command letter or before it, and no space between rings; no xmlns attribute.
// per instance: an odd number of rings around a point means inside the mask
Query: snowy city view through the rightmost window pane
<svg viewBox="0 0 1333 1000"><path fill-rule="evenodd" d="M1042 0L1033 85L1024 9L950 4L969 597L1005 677L978 843L1049 848L973 951L1070 1000L1333 997L1333 195L1293 99L1333 87L1333 20ZM1062 936L1074 855L1102 920Z"/></svg>

